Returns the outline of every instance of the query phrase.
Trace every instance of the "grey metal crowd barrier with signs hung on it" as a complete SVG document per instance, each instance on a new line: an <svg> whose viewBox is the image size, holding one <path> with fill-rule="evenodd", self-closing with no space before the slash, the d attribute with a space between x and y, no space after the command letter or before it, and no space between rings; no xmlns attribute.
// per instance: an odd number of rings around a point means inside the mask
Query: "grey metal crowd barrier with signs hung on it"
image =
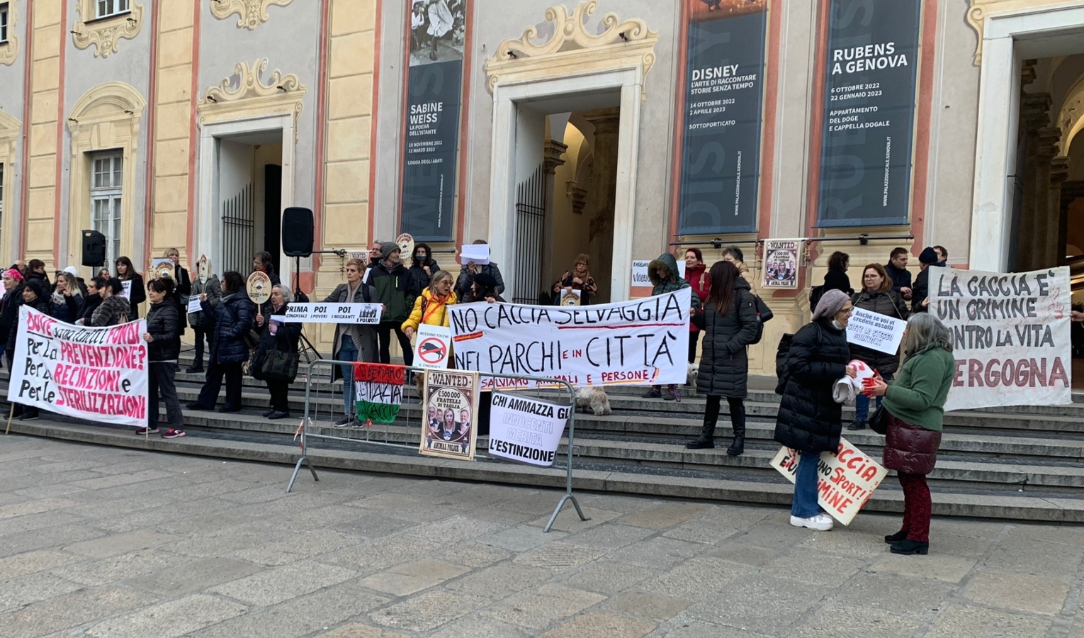
<svg viewBox="0 0 1084 638"><path fill-rule="evenodd" d="M334 360L334 359L314 359L312 361L309 361L308 374L306 374L306 378L305 378L305 416L304 416L304 418L301 420L300 428L298 428L298 431L299 431L300 436L301 436L301 458L299 458L297 460L297 464L294 465L294 474L289 477L289 484L286 485L286 493L287 494L294 488L294 482L297 480L297 474L298 474L298 472L301 471L301 465L302 464L307 465L309 468L309 471L312 472L312 480L313 481L320 481L320 477L317 476L317 470L312 467L312 461L309 459L309 438L320 438L320 439L324 439L324 441L340 441L340 442L346 442L346 443L361 443L361 444L365 444L365 445L383 445L383 446L388 446L388 447L398 447L398 448L405 448L405 449L414 449L415 446L411 445L411 444L399 444L399 443L390 443L390 442L388 442L387 434L388 434L388 426L389 426L389 424L387 424L387 423L385 424L385 439L383 442L382 441L372 441L372 439L370 439L369 438L369 429L367 428L366 428L366 431L365 431L365 435L366 435L365 438L353 438L353 437L347 437L347 436L332 436L330 434L315 434L315 433L310 433L309 432L309 425L312 422L309 419L309 414L310 414L310 407L311 407L311 401L312 401L312 380L315 377L315 374L313 374L313 368L315 367L315 365L317 363L327 363L327 365L331 365L331 366L334 367L334 366L352 366L357 361L338 361L338 360ZM405 368L405 370L408 372L416 372L416 373L424 373L426 371L433 370L431 368L418 368L418 367L415 367L415 366L403 366L403 368ZM334 368L333 368L333 370L334 370ZM522 375L522 374L498 374L495 372L494 373L485 372L485 373L479 373L479 374L480 374L481 379L518 379L518 380L524 380L524 381L537 381L537 382L542 382L542 383L544 383L546 385L557 386L557 387L564 386L565 390L568 391L569 407L571 409L569 410L569 417L568 417L568 460L565 462L565 494L564 494L564 496L560 497L560 501L557 502L557 507L554 508L553 515L550 516L550 522L546 523L545 528L543 529L543 532L549 532L550 528L553 527L554 521L557 520L557 514L560 513L560 510L565 507L565 503L568 502L568 501L572 501L572 506L576 507L576 513L580 516L581 521L590 521L591 519L589 519L588 516L583 515L583 510L580 509L580 502L576 499L576 496L572 494L572 450L573 450L575 442L576 442L576 388L572 387L572 384L568 383L567 381L565 381L563 379L553 379L553 378L550 378L550 377L526 377L526 375ZM332 374L332 377L334 378L334 373ZM406 380L408 381L410 380L410 374L406 375ZM343 382L346 383L346 380L344 379ZM493 391L493 392L495 392L495 391ZM401 404L401 405L403 405L405 407L405 404ZM475 406L475 410L477 410L477 409L478 409L478 407ZM334 413L334 410L332 411L332 413ZM422 413L422 416L424 418L424 416L425 416L424 406L423 406L423 409L422 409L421 413ZM408 419L408 422L410 420ZM478 454L476 454L475 458L476 459L478 459L478 458L480 458L480 459L489 459L490 457L486 456L486 455L478 455ZM554 465L554 467L557 468L557 469L560 469L559 465Z"/></svg>

